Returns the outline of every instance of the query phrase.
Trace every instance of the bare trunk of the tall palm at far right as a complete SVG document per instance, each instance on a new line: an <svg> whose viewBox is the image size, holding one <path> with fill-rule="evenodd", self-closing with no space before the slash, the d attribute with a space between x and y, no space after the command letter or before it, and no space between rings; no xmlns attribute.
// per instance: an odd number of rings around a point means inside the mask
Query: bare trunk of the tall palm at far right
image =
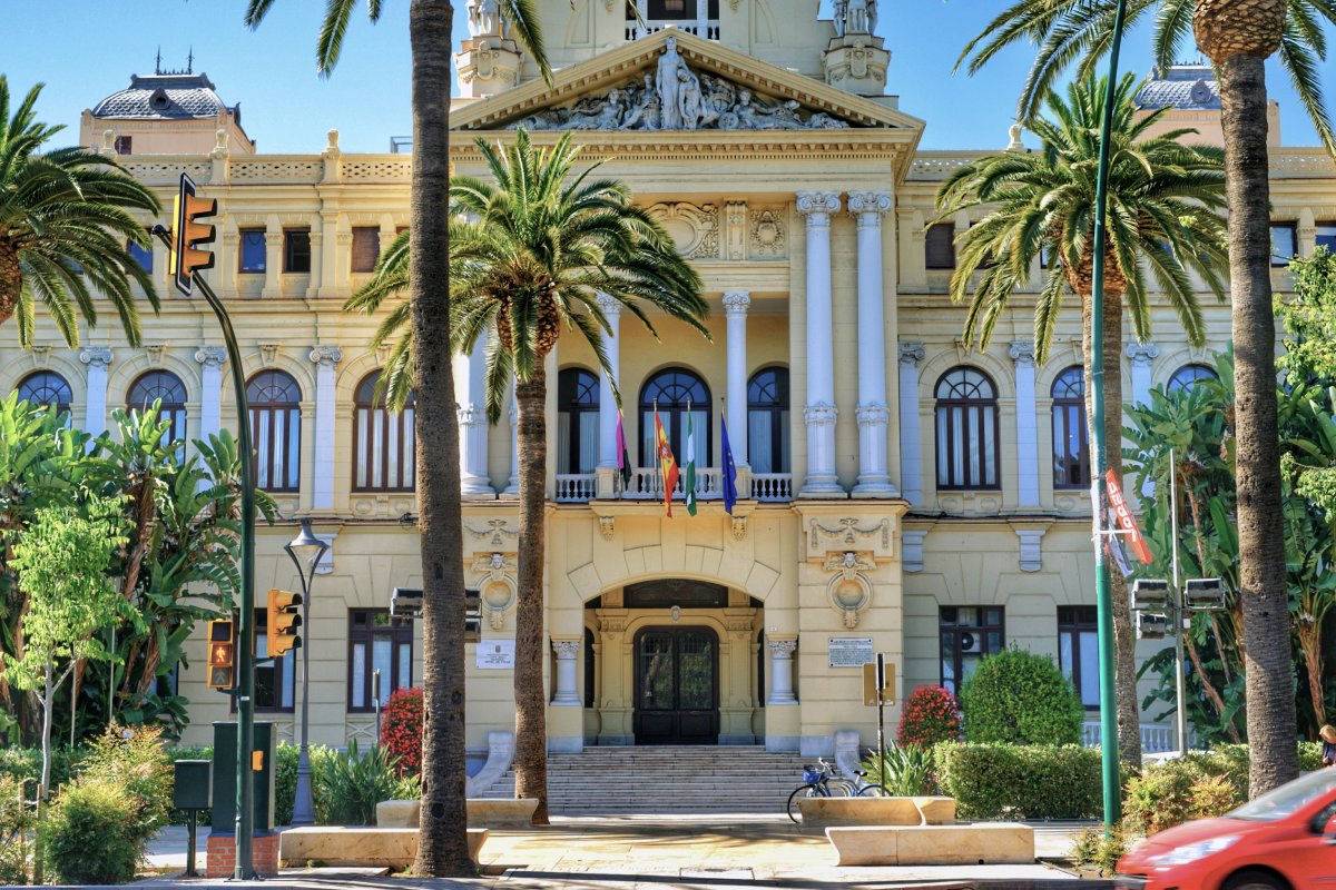
<svg viewBox="0 0 1336 890"><path fill-rule="evenodd" d="M1299 775L1295 745L1299 718L1276 420L1267 79L1261 56L1233 55L1217 61L1216 69L1224 108L1221 124L1229 196L1238 591L1244 610L1248 743L1252 747L1249 790L1256 797Z"/></svg>

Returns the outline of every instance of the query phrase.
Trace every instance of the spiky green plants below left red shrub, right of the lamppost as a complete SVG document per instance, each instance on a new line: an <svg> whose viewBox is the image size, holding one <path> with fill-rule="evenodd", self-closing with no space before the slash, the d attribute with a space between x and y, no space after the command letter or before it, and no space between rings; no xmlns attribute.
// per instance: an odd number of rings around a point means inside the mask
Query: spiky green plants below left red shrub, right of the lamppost
<svg viewBox="0 0 1336 890"><path fill-rule="evenodd" d="M422 795L418 778L399 778L394 758L386 749L371 746L358 751L311 751L311 793L319 825L375 825L375 805L381 801L407 801Z"/></svg>

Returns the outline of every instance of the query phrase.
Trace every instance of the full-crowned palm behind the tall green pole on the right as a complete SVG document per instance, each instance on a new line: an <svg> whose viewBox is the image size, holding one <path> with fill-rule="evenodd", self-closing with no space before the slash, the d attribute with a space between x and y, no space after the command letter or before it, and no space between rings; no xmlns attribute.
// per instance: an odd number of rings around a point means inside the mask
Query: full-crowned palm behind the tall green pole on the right
<svg viewBox="0 0 1336 890"><path fill-rule="evenodd" d="M987 215L961 236L959 259L951 276L951 296L969 300L967 342L987 346L994 326L1030 268L1042 260L1047 271L1034 310L1035 359L1045 362L1070 290L1081 298L1085 379L1090 379L1090 326L1094 270L1096 168L1106 79L1088 77L1067 87L1067 100L1046 96L1051 119L1037 117L1030 128L1043 148L1034 153L1005 152L975 160L957 171L938 192L942 217L986 207ZM1122 440L1122 314L1126 304L1138 340L1150 335L1146 271L1178 314L1188 340L1205 342L1201 308L1189 272L1224 299L1220 271L1225 263L1224 172L1220 151L1184 145L1177 129L1146 137L1164 109L1138 119L1136 77L1117 85L1113 145L1109 163L1109 252L1104 302L1105 416L1086 418L1092 439L1104 423L1106 440ZM1120 460L1110 460L1121 478ZM1122 759L1141 763L1136 639L1121 575L1113 576L1114 651L1117 662L1118 749Z"/></svg>

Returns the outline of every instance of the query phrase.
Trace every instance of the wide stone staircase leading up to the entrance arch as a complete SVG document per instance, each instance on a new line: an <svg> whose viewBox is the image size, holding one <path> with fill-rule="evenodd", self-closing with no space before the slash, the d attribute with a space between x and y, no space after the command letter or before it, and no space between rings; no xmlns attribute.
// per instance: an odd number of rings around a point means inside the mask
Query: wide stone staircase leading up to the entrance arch
<svg viewBox="0 0 1336 890"><path fill-rule="evenodd" d="M747 745L553 753L548 755L548 803L558 815L779 814L790 791L803 783L803 763L796 753ZM513 794L512 769L485 797Z"/></svg>

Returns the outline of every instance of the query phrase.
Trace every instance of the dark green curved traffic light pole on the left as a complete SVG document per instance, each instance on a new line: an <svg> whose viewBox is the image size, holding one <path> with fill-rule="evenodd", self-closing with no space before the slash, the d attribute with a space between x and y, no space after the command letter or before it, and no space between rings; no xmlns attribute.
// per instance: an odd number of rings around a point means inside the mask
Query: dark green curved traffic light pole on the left
<svg viewBox="0 0 1336 890"><path fill-rule="evenodd" d="M155 226L154 234L167 250L172 250L166 228ZM199 291L223 328L223 344L232 366L232 395L236 399L236 444L242 459L242 602L236 620L236 859L232 879L250 881L257 877L251 857L251 835L255 831L251 774L251 750L255 742L255 459L251 454L250 403L246 400L242 354L236 347L232 320L222 300L198 272L192 282L199 284ZM274 769L273 765L269 766Z"/></svg>

